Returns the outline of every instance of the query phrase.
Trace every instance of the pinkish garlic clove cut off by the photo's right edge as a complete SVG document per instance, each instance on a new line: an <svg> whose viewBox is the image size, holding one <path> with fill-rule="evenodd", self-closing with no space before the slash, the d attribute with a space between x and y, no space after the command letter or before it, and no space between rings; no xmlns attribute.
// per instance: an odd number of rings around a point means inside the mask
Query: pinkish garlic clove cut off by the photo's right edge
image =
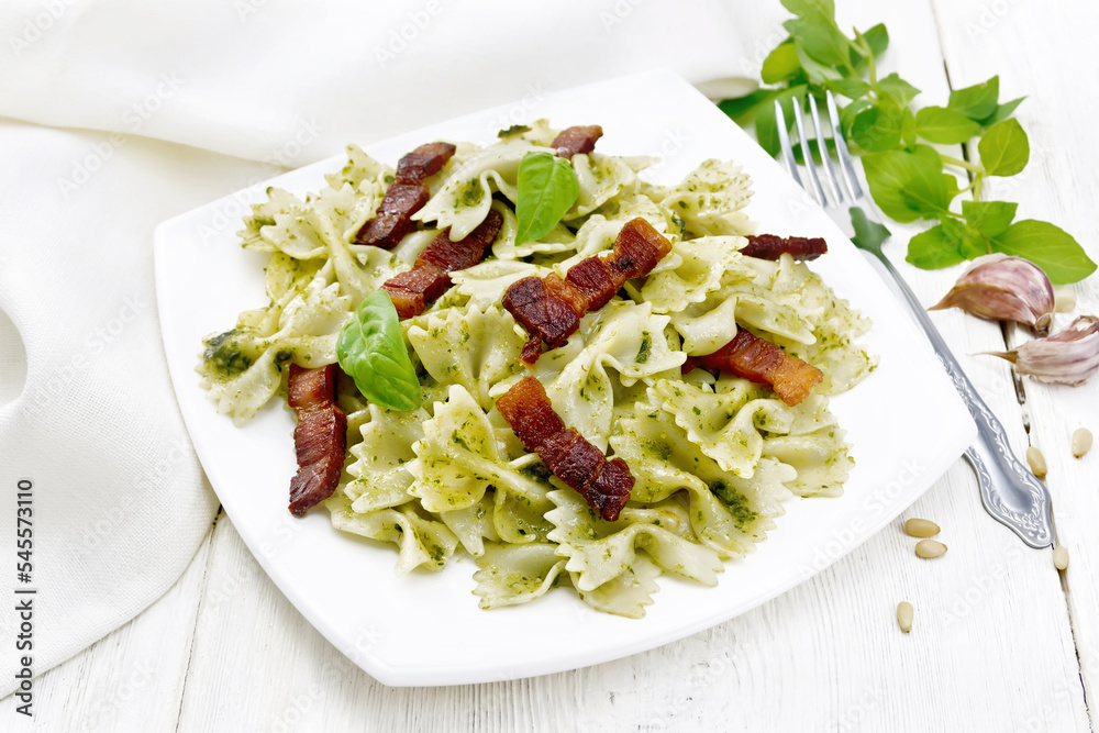
<svg viewBox="0 0 1099 733"><path fill-rule="evenodd" d="M1008 359L1019 374L1040 381L1079 385L1099 369L1099 318L1081 315L1061 333L1029 341L1010 352L987 352Z"/></svg>

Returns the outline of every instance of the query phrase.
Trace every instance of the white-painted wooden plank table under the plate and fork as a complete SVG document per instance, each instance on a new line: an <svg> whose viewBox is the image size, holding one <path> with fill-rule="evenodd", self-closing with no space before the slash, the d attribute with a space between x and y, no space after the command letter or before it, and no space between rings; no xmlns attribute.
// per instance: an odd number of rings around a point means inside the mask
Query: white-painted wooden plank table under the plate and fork
<svg viewBox="0 0 1099 733"><path fill-rule="evenodd" d="M884 21L885 65L944 103L951 86L1000 75L1031 163L988 187L1020 218L1053 221L1099 259L1099 102L1090 0L837 0L841 24ZM740 4L748 4L747 2ZM756 71L784 37L774 16L744 59ZM904 265L925 303L956 271ZM899 241L898 241L899 240ZM1076 286L1076 313L1099 311L1099 277ZM812 580L681 642L596 667L513 682L386 688L314 631L259 569L224 515L186 574L148 610L37 680L43 731L1090 731L1099 728L1099 449L1074 459L1069 436L1099 432L1099 379L1079 388L1023 382L977 352L1024 334L957 311L933 318L1015 449L1050 465L1057 542L1072 564L1024 547L981 509L958 462L901 520ZM1068 318L1058 316L1059 327ZM915 558L908 517L943 526L950 552ZM899 600L915 606L899 633ZM10 700L4 701L10 703ZM0 730L26 730L14 706Z"/></svg>

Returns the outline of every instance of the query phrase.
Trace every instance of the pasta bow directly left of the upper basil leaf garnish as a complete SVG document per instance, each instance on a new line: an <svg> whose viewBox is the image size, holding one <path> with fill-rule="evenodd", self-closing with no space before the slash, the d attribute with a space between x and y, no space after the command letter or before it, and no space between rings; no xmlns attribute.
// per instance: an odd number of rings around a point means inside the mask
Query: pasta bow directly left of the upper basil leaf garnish
<svg viewBox="0 0 1099 733"><path fill-rule="evenodd" d="M451 241L464 240L485 221L499 191L509 200L517 198L519 164L528 153L553 153L552 148L531 145L522 140L506 141L485 148L458 166L431 197L413 221L436 222L451 227Z"/></svg>

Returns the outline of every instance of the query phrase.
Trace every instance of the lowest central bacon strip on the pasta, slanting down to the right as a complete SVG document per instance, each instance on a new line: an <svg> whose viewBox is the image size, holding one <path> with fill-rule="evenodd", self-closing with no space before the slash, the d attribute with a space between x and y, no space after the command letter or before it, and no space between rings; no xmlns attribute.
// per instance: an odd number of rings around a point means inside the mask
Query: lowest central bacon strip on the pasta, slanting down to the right
<svg viewBox="0 0 1099 733"><path fill-rule="evenodd" d="M554 412L534 377L523 377L496 401L523 447L539 454L554 476L584 497L609 522L630 500L633 476L621 458L611 458Z"/></svg>

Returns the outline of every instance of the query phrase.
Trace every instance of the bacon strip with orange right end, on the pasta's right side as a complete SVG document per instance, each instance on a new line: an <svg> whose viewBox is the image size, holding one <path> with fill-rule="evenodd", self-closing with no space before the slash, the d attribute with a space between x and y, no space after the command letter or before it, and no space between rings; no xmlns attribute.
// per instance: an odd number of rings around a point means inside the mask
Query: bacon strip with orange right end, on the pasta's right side
<svg viewBox="0 0 1099 733"><path fill-rule="evenodd" d="M784 402L795 406L809 397L824 375L759 336L741 329L733 340L706 356L688 357L684 374L696 366L710 371L732 371L737 377L770 385Z"/></svg>

